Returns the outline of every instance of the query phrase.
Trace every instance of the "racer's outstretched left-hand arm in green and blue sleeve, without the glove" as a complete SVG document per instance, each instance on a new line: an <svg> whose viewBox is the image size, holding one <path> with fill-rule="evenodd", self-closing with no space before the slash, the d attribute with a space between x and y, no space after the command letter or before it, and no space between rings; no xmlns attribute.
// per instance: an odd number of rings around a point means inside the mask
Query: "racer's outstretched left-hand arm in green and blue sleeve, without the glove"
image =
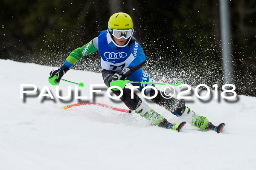
<svg viewBox="0 0 256 170"><path fill-rule="evenodd" d="M94 38L81 48L76 48L74 51L72 51L64 62L64 65L70 68L73 64L78 62L79 59L95 51L98 51L98 37Z"/></svg>

